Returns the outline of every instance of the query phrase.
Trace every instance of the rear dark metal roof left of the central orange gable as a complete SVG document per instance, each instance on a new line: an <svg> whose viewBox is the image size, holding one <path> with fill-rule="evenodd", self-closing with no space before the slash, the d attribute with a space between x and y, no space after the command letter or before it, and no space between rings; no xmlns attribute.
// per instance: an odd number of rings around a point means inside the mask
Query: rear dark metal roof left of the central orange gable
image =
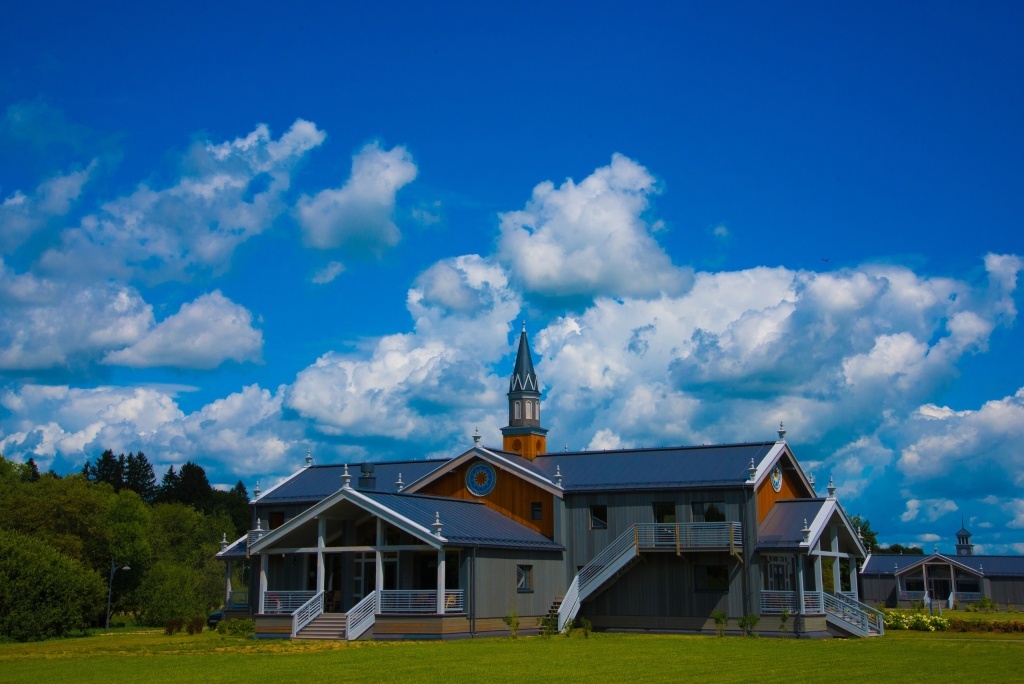
<svg viewBox="0 0 1024 684"><path fill-rule="evenodd" d="M374 463L374 477L377 478L377 491L397 491L398 474L403 483L409 484L420 479L427 473L447 463L450 459L432 459L422 461L381 461ZM359 487L359 467L361 464L348 464L348 474L351 475L351 486ZM309 466L293 475L291 479L267 491L257 500L259 504L269 503L301 503L316 502L326 499L341 488L341 466Z"/></svg>

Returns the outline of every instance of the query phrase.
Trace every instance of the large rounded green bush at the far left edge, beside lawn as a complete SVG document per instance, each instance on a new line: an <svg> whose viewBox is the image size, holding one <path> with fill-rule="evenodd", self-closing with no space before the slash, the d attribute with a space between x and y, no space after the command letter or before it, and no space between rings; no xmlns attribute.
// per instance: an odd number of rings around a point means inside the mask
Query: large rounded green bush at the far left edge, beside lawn
<svg viewBox="0 0 1024 684"><path fill-rule="evenodd" d="M105 583L81 562L12 530L0 530L0 640L38 641L102 619Z"/></svg>

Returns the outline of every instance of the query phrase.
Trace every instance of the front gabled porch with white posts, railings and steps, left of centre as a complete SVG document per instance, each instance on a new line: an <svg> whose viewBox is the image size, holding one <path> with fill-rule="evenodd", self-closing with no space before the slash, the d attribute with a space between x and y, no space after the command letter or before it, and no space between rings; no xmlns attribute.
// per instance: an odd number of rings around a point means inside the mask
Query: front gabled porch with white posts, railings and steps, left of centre
<svg viewBox="0 0 1024 684"><path fill-rule="evenodd" d="M465 612L462 550L443 537L440 512L429 514L432 522L425 511L410 517L382 496L346 483L279 528L254 530L249 552L259 559L257 624L301 637L306 626L335 614L335 638L351 640L381 614Z"/></svg>

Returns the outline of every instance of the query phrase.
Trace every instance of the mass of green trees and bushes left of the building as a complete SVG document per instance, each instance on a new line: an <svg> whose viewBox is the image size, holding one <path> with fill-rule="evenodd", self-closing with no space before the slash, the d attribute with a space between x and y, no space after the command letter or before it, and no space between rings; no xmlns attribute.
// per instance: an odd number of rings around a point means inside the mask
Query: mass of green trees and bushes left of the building
<svg viewBox="0 0 1024 684"><path fill-rule="evenodd" d="M130 567L114 573L115 613L151 626L205 615L223 599L219 542L248 526L245 485L214 489L191 462L157 484L141 452L108 450L65 477L0 456L0 641L101 626L112 566Z"/></svg>

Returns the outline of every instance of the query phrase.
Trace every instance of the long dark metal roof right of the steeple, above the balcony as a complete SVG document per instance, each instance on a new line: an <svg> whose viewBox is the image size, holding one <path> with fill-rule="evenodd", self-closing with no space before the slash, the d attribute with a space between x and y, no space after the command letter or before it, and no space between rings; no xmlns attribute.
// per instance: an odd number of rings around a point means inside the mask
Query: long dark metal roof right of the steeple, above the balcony
<svg viewBox="0 0 1024 684"><path fill-rule="evenodd" d="M737 485L750 478L774 441L705 446L544 454L532 465L548 479L556 469L566 491Z"/></svg>

